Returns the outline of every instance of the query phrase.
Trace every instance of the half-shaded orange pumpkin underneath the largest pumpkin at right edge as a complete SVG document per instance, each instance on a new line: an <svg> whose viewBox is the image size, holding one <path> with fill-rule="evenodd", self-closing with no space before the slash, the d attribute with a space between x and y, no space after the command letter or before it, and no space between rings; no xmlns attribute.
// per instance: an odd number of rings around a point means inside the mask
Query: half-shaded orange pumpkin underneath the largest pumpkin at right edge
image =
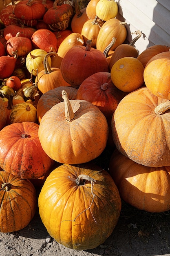
<svg viewBox="0 0 170 256"><path fill-rule="evenodd" d="M148 212L170 210L170 166L137 164L116 149L110 158L109 173L128 204Z"/></svg>

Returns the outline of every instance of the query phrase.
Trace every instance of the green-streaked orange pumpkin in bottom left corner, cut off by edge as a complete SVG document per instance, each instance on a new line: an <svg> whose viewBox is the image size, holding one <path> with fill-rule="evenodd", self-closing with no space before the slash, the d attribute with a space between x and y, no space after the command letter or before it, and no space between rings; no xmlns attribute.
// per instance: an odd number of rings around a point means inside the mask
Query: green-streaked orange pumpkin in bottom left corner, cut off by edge
<svg viewBox="0 0 170 256"><path fill-rule="evenodd" d="M29 180L0 171L0 232L26 227L37 209L36 191Z"/></svg>

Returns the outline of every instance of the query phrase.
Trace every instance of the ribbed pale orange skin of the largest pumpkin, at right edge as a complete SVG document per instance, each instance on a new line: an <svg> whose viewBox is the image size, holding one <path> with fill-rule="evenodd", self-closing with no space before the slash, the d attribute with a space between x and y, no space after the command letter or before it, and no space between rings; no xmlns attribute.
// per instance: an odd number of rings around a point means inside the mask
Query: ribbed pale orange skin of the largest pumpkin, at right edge
<svg viewBox="0 0 170 256"><path fill-rule="evenodd" d="M126 95L112 117L112 135L126 157L150 167L170 166L170 112L155 112L166 99L146 87Z"/></svg>

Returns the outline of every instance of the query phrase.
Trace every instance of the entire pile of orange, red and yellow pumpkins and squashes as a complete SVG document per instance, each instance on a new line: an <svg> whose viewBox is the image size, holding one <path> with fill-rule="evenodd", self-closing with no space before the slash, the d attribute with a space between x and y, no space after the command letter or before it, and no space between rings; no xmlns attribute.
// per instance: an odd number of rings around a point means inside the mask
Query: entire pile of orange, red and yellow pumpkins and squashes
<svg viewBox="0 0 170 256"><path fill-rule="evenodd" d="M124 43L117 14L114 0L1 8L0 232L26 227L38 204L58 243L86 250L113 232L121 199L170 210L170 47L138 54L141 31Z"/></svg>

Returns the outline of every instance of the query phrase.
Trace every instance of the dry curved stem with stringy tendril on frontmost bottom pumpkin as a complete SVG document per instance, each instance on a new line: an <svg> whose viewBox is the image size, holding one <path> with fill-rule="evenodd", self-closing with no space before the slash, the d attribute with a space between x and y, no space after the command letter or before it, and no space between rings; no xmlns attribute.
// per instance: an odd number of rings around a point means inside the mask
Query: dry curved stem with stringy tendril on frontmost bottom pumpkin
<svg viewBox="0 0 170 256"><path fill-rule="evenodd" d="M92 201L91 201L91 204L89 205L88 208L86 208L84 211L82 211L81 213L79 213L73 220L62 220L61 222L63 221L75 221L82 213L84 213L85 211L89 210L91 211L91 206L93 204L93 201L94 201L94 198L95 198L95 194L93 193L93 186L94 186L94 183L96 182L95 179L91 178L90 176L88 175L85 175L85 174L80 174L77 179L75 180L75 182L77 183L77 185L80 184L80 180L88 180L91 182L91 195L93 196L92 198ZM92 216L93 216L93 213L91 212ZM95 220L94 216L93 216L93 219ZM96 220L95 220L96 222ZM97 223L97 222L96 222Z"/></svg>

